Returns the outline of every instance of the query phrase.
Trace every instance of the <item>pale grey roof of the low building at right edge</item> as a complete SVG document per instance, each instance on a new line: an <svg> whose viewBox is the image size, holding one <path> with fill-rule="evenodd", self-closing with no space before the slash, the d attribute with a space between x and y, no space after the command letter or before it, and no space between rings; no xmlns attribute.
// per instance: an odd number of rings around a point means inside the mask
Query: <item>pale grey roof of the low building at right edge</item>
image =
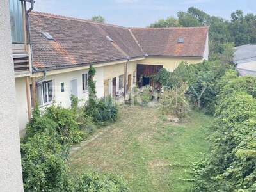
<svg viewBox="0 0 256 192"><path fill-rule="evenodd" d="M241 45L235 47L235 49L234 63L239 64L256 61L256 45Z"/></svg>

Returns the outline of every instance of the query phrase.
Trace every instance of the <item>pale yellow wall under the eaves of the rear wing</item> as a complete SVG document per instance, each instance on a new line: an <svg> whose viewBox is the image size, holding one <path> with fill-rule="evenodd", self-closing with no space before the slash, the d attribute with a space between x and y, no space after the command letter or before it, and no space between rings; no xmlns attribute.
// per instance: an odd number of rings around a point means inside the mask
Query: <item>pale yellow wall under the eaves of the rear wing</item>
<svg viewBox="0 0 256 192"><path fill-rule="evenodd" d="M168 71L173 71L182 61L188 62L188 64L200 63L204 59L202 58L177 58L168 56L150 56L145 58L145 60L137 61L138 64L148 64L148 65L163 65Z"/></svg>

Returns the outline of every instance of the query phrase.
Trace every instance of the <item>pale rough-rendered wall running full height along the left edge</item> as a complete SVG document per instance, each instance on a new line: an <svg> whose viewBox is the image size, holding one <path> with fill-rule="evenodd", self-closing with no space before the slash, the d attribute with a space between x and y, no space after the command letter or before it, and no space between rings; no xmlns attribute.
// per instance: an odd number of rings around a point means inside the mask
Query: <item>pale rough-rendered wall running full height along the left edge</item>
<svg viewBox="0 0 256 192"><path fill-rule="evenodd" d="M23 191L8 0L0 1L0 42L0 191Z"/></svg>

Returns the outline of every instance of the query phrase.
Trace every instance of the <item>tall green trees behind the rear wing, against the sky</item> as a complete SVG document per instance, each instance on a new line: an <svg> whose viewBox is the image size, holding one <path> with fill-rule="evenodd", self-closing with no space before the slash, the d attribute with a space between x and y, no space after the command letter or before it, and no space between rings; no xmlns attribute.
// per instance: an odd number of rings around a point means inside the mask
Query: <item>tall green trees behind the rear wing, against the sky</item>
<svg viewBox="0 0 256 192"><path fill-rule="evenodd" d="M177 12L178 19L168 17L161 19L150 27L170 26L209 26L209 48L211 60L216 54L222 54L228 44L236 46L256 43L256 15L244 15L241 10L233 12L229 20L211 16L195 7L188 8L187 12ZM226 47L227 48L227 47ZM227 61L225 61L227 62Z"/></svg>

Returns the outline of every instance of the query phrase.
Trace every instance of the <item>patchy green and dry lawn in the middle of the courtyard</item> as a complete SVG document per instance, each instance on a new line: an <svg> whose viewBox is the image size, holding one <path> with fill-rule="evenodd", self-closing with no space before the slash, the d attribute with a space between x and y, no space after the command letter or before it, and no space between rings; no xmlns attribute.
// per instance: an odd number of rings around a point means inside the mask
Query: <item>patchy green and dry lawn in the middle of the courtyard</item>
<svg viewBox="0 0 256 192"><path fill-rule="evenodd" d="M70 157L72 172L117 173L131 191L190 191L189 166L209 151L212 118L193 112L173 124L157 108L123 106L108 131Z"/></svg>

